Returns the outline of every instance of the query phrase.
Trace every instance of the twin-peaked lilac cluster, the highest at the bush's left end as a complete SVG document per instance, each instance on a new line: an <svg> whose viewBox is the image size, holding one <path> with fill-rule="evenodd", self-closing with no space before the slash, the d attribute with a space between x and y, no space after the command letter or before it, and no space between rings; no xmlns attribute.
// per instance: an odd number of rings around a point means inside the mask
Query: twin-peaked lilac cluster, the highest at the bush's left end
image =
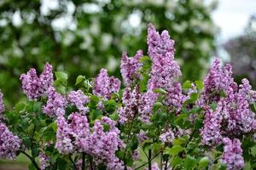
<svg viewBox="0 0 256 170"><path fill-rule="evenodd" d="M30 69L26 74L20 76L22 89L29 99L38 99L47 94L48 88L53 85L52 66L49 63L44 65L44 71L38 77L35 69Z"/></svg>

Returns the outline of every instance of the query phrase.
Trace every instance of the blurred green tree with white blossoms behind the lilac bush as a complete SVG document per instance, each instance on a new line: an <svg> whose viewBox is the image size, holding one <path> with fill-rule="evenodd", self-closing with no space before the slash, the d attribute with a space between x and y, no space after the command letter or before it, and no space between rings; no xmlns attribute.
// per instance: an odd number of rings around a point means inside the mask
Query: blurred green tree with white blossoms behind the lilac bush
<svg viewBox="0 0 256 170"><path fill-rule="evenodd" d="M123 50L146 54L149 22L171 32L183 77L195 80L214 48L215 7L203 0L2 0L0 87L9 101L17 99L20 73L46 61L72 82L102 67L119 76Z"/></svg>

